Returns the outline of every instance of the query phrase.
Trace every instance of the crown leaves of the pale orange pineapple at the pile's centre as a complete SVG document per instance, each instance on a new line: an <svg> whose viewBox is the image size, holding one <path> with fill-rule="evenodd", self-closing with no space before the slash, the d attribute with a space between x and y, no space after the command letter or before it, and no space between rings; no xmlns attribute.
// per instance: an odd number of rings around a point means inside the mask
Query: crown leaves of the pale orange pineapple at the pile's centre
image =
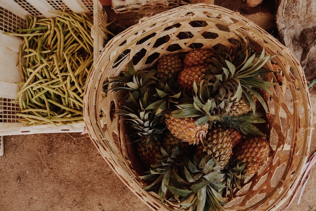
<svg viewBox="0 0 316 211"><path fill-rule="evenodd" d="M179 109L173 111L173 117L199 117L195 122L196 125L209 123L209 127L216 120L220 120L220 116L227 113L229 109L229 101L227 99L220 100L212 98L209 91L209 80L202 80L199 89L196 83L193 83L193 102L179 104Z"/></svg>

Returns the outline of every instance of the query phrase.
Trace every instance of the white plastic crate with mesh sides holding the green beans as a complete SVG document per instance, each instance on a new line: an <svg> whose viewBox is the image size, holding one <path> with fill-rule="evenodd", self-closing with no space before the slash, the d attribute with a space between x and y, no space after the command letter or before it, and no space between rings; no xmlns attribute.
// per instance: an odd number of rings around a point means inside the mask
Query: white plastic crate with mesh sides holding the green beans
<svg viewBox="0 0 316 211"><path fill-rule="evenodd" d="M94 9L96 8L96 9ZM82 132L84 122L61 126L39 125L27 126L19 122L20 111L15 100L18 92L16 82L21 81L21 75L16 62L19 46L22 40L3 34L3 32L18 33L15 29L25 28L27 15L38 17L54 17L52 13L58 10L86 13L94 16L94 27L91 36L94 38L94 62L107 40L107 15L98 0L4 0L0 5L0 135Z"/></svg>

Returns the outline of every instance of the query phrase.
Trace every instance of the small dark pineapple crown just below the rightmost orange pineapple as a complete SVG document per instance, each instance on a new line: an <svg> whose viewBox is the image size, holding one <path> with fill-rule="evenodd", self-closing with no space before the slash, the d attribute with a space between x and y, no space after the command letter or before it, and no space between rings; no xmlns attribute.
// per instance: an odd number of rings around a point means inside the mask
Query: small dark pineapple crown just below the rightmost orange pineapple
<svg viewBox="0 0 316 211"><path fill-rule="evenodd" d="M235 189L241 189L241 181L244 181L248 176L243 174L245 169L245 164L240 164L240 162L232 161L226 164L225 168L222 170L225 174L226 189L223 195L230 194L231 198L234 199L233 192Z"/></svg>

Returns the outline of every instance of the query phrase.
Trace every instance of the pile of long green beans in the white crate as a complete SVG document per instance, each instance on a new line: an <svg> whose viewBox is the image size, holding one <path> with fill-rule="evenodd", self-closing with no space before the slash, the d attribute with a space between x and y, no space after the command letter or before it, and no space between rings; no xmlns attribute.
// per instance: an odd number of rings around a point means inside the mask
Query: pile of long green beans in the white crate
<svg viewBox="0 0 316 211"><path fill-rule="evenodd" d="M55 13L54 13L55 14ZM84 13L60 11L56 18L26 17L17 65L22 82L17 94L28 125L83 121L85 83L93 68L93 22Z"/></svg>

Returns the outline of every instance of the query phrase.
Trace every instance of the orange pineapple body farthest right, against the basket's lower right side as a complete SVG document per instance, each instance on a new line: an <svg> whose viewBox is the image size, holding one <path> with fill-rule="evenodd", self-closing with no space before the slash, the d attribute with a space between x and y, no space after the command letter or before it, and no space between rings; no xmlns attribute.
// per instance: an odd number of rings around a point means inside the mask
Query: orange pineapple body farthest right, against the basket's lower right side
<svg viewBox="0 0 316 211"><path fill-rule="evenodd" d="M251 175L268 161L272 150L264 137L248 136L233 153L234 160L245 164L244 174Z"/></svg>

